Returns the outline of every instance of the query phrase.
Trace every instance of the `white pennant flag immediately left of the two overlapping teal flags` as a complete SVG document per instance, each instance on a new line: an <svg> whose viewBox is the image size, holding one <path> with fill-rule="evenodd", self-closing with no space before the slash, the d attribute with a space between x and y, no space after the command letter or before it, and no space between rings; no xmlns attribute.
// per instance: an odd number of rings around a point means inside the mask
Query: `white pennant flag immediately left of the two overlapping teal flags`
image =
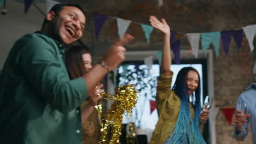
<svg viewBox="0 0 256 144"><path fill-rule="evenodd" d="M187 37L189 40L189 44L191 45L192 48L192 53L197 58L199 50L200 33L188 33Z"/></svg>

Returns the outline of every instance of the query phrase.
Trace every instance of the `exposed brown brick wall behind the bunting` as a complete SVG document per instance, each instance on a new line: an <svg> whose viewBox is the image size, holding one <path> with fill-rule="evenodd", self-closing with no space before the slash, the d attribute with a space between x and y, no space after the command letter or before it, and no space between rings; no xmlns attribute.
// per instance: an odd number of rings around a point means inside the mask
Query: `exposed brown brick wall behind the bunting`
<svg viewBox="0 0 256 144"><path fill-rule="evenodd" d="M159 8L156 0L112 0L95 1L87 0L82 5L86 10L105 14L133 22L149 24L149 15L165 18L171 30L191 32L223 31L256 23L256 1L244 0L187 0L167 1ZM100 38L96 40L94 34L94 22L91 13L87 13L87 24L83 41L91 47L94 59L100 59L104 51L115 40L118 40L118 28L115 19L109 18L104 24ZM153 31L150 44L147 44L141 26L131 23L127 32L135 37L135 40L126 48L135 50L160 50L162 35ZM176 39L182 35L177 35ZM187 38L182 39L181 49L188 46ZM201 47L200 47L201 49ZM245 52L245 56L243 56ZM237 96L245 91L249 83L253 82L252 67L254 64L253 52L249 49L246 38L243 38L243 46L238 49L234 39L231 41L228 56L225 56L223 46L220 43L219 57L214 57L214 95L216 105L219 107L235 107ZM216 120L217 143L237 143L232 136L233 125L228 125L220 110ZM246 142L252 143L251 134Z"/></svg>

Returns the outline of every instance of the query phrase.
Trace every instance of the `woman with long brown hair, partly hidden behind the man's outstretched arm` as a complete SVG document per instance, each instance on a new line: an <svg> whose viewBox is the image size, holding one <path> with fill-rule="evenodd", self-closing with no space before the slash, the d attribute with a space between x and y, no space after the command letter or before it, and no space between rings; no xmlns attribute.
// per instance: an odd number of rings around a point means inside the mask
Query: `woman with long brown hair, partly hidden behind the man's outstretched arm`
<svg viewBox="0 0 256 144"><path fill-rule="evenodd" d="M70 79L77 79L92 68L91 54L87 47L73 45L65 53L65 64ZM102 87L103 85L99 83L84 104L80 106L83 123L83 144L94 144L100 140L100 122L98 121L95 105L97 105L97 101L102 97L100 93L104 92L101 89Z"/></svg>

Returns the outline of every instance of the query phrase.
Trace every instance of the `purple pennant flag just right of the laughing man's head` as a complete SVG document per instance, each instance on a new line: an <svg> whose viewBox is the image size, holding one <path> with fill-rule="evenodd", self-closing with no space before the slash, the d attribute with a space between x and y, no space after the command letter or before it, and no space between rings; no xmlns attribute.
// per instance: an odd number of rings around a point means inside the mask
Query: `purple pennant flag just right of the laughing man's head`
<svg viewBox="0 0 256 144"><path fill-rule="evenodd" d="M101 28L102 28L104 22L106 21L106 19L107 19L106 15L94 13L94 26L95 26L95 34L96 34L97 39L98 39L98 35L100 34Z"/></svg>

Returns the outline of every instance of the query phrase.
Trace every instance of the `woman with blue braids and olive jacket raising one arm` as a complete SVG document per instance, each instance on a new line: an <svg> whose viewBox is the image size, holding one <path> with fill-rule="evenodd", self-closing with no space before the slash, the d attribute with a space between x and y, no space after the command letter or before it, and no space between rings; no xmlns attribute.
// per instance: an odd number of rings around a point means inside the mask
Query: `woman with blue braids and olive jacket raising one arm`
<svg viewBox="0 0 256 144"><path fill-rule="evenodd" d="M161 75L158 78L156 108L159 120L150 140L151 144L204 144L201 130L208 119L209 111L201 113L200 77L192 67L181 69L171 89L173 73L171 66L170 27L165 19L159 21L150 16L151 25L164 33ZM190 103L189 97L195 101Z"/></svg>

